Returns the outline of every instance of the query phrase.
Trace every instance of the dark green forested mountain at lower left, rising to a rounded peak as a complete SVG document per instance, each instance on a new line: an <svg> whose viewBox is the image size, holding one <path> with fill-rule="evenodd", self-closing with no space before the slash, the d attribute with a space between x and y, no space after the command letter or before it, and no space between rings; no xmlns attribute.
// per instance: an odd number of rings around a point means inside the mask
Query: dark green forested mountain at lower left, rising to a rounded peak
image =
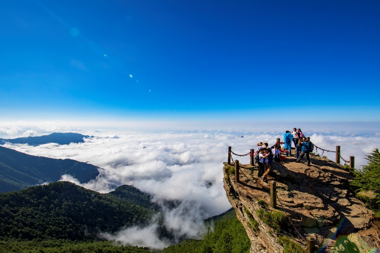
<svg viewBox="0 0 380 253"><path fill-rule="evenodd" d="M145 223L152 214L111 195L53 182L0 193L0 240L95 239L99 232Z"/></svg>

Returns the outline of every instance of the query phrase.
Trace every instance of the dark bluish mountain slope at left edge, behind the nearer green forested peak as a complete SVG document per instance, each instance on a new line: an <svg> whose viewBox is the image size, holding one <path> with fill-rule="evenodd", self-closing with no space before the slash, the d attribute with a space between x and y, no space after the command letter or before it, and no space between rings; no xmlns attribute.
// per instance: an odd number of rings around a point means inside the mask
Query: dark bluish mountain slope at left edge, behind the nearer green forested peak
<svg viewBox="0 0 380 253"><path fill-rule="evenodd" d="M69 174L85 183L95 179L99 167L72 159L31 156L0 146L0 192L20 190Z"/></svg>

